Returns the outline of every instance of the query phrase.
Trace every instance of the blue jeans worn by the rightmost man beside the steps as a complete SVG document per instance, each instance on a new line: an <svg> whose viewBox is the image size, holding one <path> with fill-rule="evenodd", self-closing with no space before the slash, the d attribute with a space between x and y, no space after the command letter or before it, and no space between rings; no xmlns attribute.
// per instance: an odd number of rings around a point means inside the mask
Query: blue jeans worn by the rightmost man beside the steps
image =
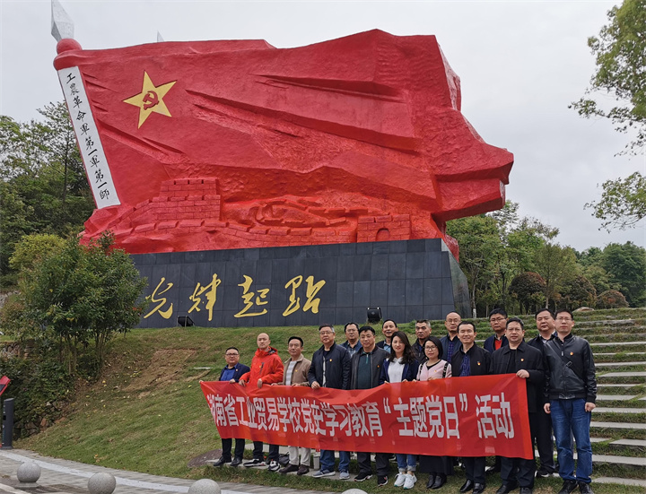
<svg viewBox="0 0 646 494"><path fill-rule="evenodd" d="M559 475L564 481L590 483L592 474L592 446L589 441L591 412L585 411L585 400L552 400L552 428L556 438ZM574 470L572 435L576 441L577 465Z"/></svg>

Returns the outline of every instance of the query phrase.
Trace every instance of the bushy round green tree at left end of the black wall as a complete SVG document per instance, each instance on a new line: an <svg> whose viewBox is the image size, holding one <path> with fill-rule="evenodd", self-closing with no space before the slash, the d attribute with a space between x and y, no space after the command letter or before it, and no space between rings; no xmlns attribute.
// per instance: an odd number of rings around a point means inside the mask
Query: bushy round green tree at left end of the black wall
<svg viewBox="0 0 646 494"><path fill-rule="evenodd" d="M89 246L70 238L31 270L23 270L11 306L13 320L4 314L6 331L19 340L57 338L70 374L76 370L79 348L93 341L100 364L106 343L136 325L146 305L141 299L146 281L131 258L112 244L109 235Z"/></svg>

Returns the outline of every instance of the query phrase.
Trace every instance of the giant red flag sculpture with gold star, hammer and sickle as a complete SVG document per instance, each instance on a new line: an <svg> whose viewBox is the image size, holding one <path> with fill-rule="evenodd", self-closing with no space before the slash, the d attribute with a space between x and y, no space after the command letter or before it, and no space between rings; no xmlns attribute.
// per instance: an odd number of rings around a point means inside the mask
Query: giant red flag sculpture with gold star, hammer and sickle
<svg viewBox="0 0 646 494"><path fill-rule="evenodd" d="M57 49L97 203L84 238L113 230L132 253L444 238L457 254L445 222L504 203L513 157L460 113L434 36Z"/></svg>

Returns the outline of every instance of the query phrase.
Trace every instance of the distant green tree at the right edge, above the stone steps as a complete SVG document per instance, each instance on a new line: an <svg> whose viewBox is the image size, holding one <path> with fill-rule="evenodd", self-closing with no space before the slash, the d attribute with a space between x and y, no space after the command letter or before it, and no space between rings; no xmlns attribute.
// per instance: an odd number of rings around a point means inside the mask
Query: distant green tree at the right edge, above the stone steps
<svg viewBox="0 0 646 494"><path fill-rule="evenodd" d="M646 249L626 242L608 244L601 260L611 281L619 285L631 307L646 304Z"/></svg>

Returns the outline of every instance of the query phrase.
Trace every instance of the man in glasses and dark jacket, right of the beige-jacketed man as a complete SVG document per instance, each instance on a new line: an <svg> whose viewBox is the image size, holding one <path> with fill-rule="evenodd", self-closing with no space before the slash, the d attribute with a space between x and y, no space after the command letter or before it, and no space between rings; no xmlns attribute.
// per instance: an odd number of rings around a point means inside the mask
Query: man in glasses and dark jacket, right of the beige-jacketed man
<svg viewBox="0 0 646 494"><path fill-rule="evenodd" d="M312 389L319 387L333 387L347 389L350 383L350 355L341 345L335 342L335 329L333 325L320 325L319 338L323 345L312 355L308 381ZM334 476L335 456L334 451L321 449L320 470L313 477ZM350 454L339 451L339 479L350 478Z"/></svg>

